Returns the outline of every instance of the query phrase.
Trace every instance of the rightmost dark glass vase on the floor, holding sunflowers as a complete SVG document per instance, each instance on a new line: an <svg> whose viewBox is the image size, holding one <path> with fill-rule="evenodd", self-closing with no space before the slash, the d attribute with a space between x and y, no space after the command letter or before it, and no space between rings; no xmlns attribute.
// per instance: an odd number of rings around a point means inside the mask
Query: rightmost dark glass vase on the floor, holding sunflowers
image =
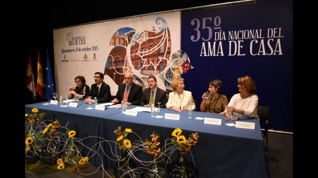
<svg viewBox="0 0 318 178"><path fill-rule="evenodd" d="M194 178L198 177L197 168L190 164L180 151L179 158L172 162L165 172L167 178Z"/></svg>

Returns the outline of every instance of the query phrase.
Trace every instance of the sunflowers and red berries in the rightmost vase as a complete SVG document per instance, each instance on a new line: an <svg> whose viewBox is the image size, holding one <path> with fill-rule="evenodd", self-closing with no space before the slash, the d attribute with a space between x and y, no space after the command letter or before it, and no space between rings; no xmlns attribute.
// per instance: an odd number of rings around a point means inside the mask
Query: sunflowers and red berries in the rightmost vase
<svg viewBox="0 0 318 178"><path fill-rule="evenodd" d="M192 146L195 146L197 144L199 135L198 133L191 134L189 135L189 138L187 140L185 136L181 135L181 133L181 129L175 129L171 133L171 135L173 136L171 143L175 144L183 154L186 154L188 151L190 151L190 148Z"/></svg>

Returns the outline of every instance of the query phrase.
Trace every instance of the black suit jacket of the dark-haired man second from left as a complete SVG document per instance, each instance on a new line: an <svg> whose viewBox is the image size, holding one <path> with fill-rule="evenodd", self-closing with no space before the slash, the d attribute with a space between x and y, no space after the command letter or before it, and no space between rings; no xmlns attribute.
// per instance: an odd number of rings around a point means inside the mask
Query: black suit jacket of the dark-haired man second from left
<svg viewBox="0 0 318 178"><path fill-rule="evenodd" d="M92 99L94 100L94 97L97 97L97 91L98 91L97 84L94 83L92 84L91 90L89 91L87 96L92 96ZM97 97L97 103L101 103L101 102L110 102L110 87L105 82L101 83L100 92Z"/></svg>

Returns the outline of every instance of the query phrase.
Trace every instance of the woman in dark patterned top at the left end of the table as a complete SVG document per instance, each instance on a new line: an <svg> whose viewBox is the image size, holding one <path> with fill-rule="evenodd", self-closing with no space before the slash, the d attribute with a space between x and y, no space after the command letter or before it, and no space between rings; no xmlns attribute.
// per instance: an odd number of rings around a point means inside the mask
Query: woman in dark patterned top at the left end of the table
<svg viewBox="0 0 318 178"><path fill-rule="evenodd" d="M89 86L86 85L85 77L77 76L74 80L76 83L76 87L74 89L73 87L69 88L70 92L68 93L67 97L69 99L73 99L74 96L77 96L80 100L84 100L89 92Z"/></svg>

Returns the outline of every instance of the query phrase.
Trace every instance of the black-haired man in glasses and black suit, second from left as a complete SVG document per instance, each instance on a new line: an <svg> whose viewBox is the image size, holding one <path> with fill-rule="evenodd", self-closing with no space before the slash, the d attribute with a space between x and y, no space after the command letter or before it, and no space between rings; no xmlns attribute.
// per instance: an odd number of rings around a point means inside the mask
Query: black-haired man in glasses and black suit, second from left
<svg viewBox="0 0 318 178"><path fill-rule="evenodd" d="M95 72L94 80L95 80L95 83L92 84L91 90L86 96L86 99L84 100L84 102L86 104L89 103L89 101L93 103L94 97L97 98L97 103L110 102L110 87L108 84L103 82L104 74L101 72ZM92 98L89 99L87 98L88 96L92 96Z"/></svg>

